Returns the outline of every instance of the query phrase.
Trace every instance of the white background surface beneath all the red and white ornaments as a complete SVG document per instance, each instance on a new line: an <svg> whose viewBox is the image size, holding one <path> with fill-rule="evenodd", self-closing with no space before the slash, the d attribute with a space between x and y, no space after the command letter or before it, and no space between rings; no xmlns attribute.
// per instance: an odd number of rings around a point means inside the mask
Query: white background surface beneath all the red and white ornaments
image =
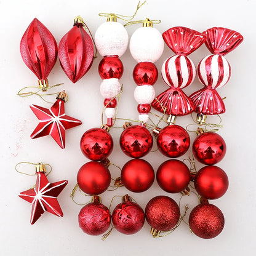
<svg viewBox="0 0 256 256"><path fill-rule="evenodd" d="M81 15L94 34L105 18L98 17L99 12L116 12L123 15L134 13L137 0L130 1L49 1L23 0L1 1L1 204L0 204L0 254L1 255L254 255L256 249L256 193L255 193L255 1L153 1L148 0L138 10L136 20L149 17L161 19L156 25L158 30L166 31L171 26L188 26L204 31L212 26L224 26L239 31L244 42L230 54L226 55L232 68L231 79L218 90L225 99L226 113L222 114L223 129L219 134L225 138L227 153L218 166L228 174L230 187L226 194L215 201L225 215L225 228L215 239L204 240L190 234L185 223L165 238L153 239L150 226L145 223L143 229L132 236L113 231L111 236L102 242L100 237L87 236L78 226L78 212L81 206L71 201L69 194L76 184L78 169L87 162L79 149L79 140L85 130L101 124L103 98L100 95L102 79L98 75L98 57L84 78L72 84L60 68L59 63L50 73L50 84L65 82L65 85L52 92L65 89L69 95L66 103L66 114L79 118L83 124L67 130L66 149L62 150L51 137L30 139L30 134L38 124L36 116L29 108L31 103L50 106L39 97L19 98L17 92L24 86L36 85L34 74L22 62L19 52L20 39L34 17L47 26L57 42L73 26L73 18ZM129 36L140 25L127 27ZM162 63L173 53L165 46L162 57L156 62L158 70ZM205 46L193 52L190 58L195 65L209 55ZM137 64L126 51L121 58L124 63L124 75L121 83L124 92L119 105L119 118L137 119L137 103L134 100L135 83L132 70ZM160 73L160 72L159 72ZM202 86L198 79L185 89L190 95ZM167 86L159 76L154 85L156 95ZM54 101L49 97L51 101ZM217 119L209 118L210 122ZM191 117L177 118L177 124L183 127L190 124ZM122 121L118 126L122 125ZM164 126L164 124L162 124ZM111 130L114 138L114 150L110 160L123 166L129 158L119 149L118 140L122 129ZM190 133L193 141L195 135ZM156 145L153 146L153 150ZM191 155L191 148L186 156ZM167 158L159 152L148 154L148 160L156 170ZM182 158L183 159L183 158ZM30 188L35 177L15 172L15 164L21 161L49 163L53 167L49 175L50 182L68 179L69 183L58 197L64 217L58 218L45 213L38 222L30 225L31 205L18 198L20 191ZM197 165L198 168L201 165ZM33 167L24 166L24 171L33 172ZM112 176L118 177L119 170L110 168ZM125 188L107 192L102 195L103 203L109 206L113 195L127 193ZM153 196L167 194L156 181L145 193L129 193L145 208ZM168 194L167 194L168 195ZM179 194L170 195L176 201ZM79 202L89 199L77 196ZM118 204L116 198L113 205ZM182 201L196 205L195 196L191 195ZM112 208L113 209L113 208ZM183 208L182 208L183 209ZM188 218L186 217L186 220Z"/></svg>

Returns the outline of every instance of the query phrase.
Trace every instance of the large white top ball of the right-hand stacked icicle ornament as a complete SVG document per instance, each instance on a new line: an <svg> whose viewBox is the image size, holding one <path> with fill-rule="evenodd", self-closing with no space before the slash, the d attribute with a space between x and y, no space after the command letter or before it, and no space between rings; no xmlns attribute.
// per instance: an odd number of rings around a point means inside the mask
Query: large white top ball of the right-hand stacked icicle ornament
<svg viewBox="0 0 256 256"><path fill-rule="evenodd" d="M164 40L156 28L143 26L130 38L130 54L137 62L156 62L164 50Z"/></svg>

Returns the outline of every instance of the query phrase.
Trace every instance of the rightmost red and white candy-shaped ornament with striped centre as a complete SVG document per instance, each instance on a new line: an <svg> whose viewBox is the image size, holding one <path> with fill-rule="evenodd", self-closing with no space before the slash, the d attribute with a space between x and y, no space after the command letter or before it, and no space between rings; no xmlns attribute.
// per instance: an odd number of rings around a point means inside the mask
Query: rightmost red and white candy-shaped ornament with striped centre
<svg viewBox="0 0 256 256"><path fill-rule="evenodd" d="M202 34L206 36L206 47L212 55L203 58L198 65L198 78L204 88L190 95L199 122L208 114L225 113L223 100L215 90L225 86L231 76L230 63L223 55L234 50L243 40L241 34L227 28L210 28Z"/></svg>

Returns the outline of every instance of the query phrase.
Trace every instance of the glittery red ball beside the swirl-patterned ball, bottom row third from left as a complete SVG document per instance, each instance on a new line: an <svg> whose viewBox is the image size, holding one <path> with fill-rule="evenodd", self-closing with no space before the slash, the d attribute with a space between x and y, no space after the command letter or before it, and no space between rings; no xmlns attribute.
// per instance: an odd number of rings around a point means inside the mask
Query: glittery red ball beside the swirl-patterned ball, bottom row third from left
<svg viewBox="0 0 256 256"><path fill-rule="evenodd" d="M145 217L148 224L158 231L169 231L177 225L180 209L168 196L156 196L146 204Z"/></svg>

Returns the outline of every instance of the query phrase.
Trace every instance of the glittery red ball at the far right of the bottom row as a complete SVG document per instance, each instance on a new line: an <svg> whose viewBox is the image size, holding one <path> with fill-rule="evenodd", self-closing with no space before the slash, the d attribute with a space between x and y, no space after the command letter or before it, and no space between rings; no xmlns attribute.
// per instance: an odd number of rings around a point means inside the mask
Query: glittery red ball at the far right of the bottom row
<svg viewBox="0 0 256 256"><path fill-rule="evenodd" d="M209 239L218 236L224 228L222 211L213 204L202 203L194 207L189 221L191 231L199 238Z"/></svg>

